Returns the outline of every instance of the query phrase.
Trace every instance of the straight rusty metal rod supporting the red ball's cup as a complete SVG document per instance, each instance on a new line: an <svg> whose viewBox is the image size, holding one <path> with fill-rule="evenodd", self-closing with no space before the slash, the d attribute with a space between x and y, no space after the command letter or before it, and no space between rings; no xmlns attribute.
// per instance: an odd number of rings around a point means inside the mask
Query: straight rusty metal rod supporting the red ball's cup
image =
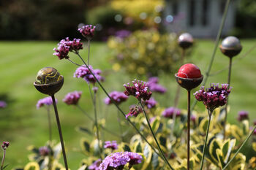
<svg viewBox="0 0 256 170"><path fill-rule="evenodd" d="M187 90L187 170L190 158L190 90Z"/></svg>

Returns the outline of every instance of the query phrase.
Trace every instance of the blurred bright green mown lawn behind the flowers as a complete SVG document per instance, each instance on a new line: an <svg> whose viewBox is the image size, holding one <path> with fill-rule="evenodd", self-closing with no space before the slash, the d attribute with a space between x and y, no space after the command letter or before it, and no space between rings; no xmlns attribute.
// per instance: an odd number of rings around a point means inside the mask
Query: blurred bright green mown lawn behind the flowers
<svg viewBox="0 0 256 170"><path fill-rule="evenodd" d="M33 144L40 147L48 140L48 122L46 116L46 109L37 109L35 105L40 98L45 95L37 92L33 86L36 74L39 69L45 66L53 66L64 75L64 87L56 94L59 100L59 115L61 117L61 125L64 133L64 140L67 146L67 155L70 169L78 169L78 164L85 158L79 152L81 137L91 139L91 136L81 134L75 131L78 125L89 125L90 123L86 117L75 107L68 107L61 100L70 91L82 90L82 98L80 106L86 112L93 115L92 104L89 98L88 85L83 80L73 78L73 73L77 66L69 63L67 60L61 60L53 56L53 47L56 47L58 42L0 42L0 99L8 103L6 109L0 110L0 142L10 141L11 145L7 151L6 163L10 163L8 169L17 166L24 166L29 162L27 155L29 151L26 149ZM255 45L255 39L242 39L241 44L244 49L241 55L246 53L249 48ZM211 53L214 48L214 42L211 40L198 40L195 48L192 51L192 57L187 62L195 63L200 67L204 74L208 67L208 62L211 59ZM84 58L87 58L87 51L83 50L81 53ZM137 77L130 76L123 71L111 71L111 63L108 58L110 51L105 43L94 42L91 45L91 65L95 69L102 69L106 77L106 89L110 92L112 90L124 90L123 84L130 82ZM240 57L239 55L238 57ZM254 115L255 109L255 93L256 93L256 50L246 55L245 58L238 60L238 57L233 58L233 61L238 61L233 65L231 86L233 87L230 94L230 114L228 120L231 123L237 123L236 115L240 110L247 110L251 120L256 118ZM72 60L78 61L75 55L70 55ZM211 73L217 72L220 69L228 66L228 58L217 50L214 65ZM177 84L173 74L162 74L159 76L160 84L168 88L165 95L154 94L154 97L159 101L161 107L171 107L173 105L173 98L176 93ZM227 70L214 77L209 77L206 83L206 88L210 82L227 82ZM198 88L196 89L198 90ZM192 91L194 92L194 91ZM105 94L99 90L99 115L100 117L107 117L107 127L113 131L116 130L116 109L115 107L106 107L102 99ZM192 101L194 100L192 96ZM181 103L179 107L187 108L187 94L185 90L181 90ZM135 103L134 98L129 98L126 104L122 104L124 112L128 112L129 104ZM195 109L203 111L203 104L197 103ZM56 128L55 118L52 111L53 119L53 139L59 141L59 134ZM132 130L131 130L132 131ZM131 132L132 133L132 132ZM116 139L116 137L105 134L105 139ZM62 158L60 159L62 161Z"/></svg>

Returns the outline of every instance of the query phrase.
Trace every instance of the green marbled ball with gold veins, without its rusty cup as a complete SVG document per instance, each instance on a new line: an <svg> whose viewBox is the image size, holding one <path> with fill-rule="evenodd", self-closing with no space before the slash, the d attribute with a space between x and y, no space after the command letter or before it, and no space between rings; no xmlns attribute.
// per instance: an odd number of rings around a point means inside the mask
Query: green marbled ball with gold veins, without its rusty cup
<svg viewBox="0 0 256 170"><path fill-rule="evenodd" d="M47 85L61 80L61 74L53 67L45 67L39 70L36 77L37 85Z"/></svg>

